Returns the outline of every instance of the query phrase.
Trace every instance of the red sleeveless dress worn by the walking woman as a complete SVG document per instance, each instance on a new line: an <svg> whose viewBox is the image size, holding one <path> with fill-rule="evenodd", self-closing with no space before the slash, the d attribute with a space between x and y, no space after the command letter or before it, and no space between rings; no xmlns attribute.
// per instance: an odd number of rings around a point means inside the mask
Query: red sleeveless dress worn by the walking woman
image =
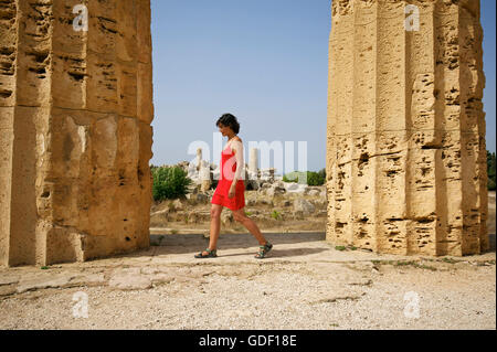
<svg viewBox="0 0 497 352"><path fill-rule="evenodd" d="M230 164L232 164L232 172L225 173L224 170L225 168L226 170L230 170ZM212 195L212 204L223 205L232 211L236 211L245 206L245 183L243 180L236 181L235 195L232 199L228 198L235 171L236 157L235 152L230 147L221 152L220 180L218 182L218 186L215 188L214 194Z"/></svg>

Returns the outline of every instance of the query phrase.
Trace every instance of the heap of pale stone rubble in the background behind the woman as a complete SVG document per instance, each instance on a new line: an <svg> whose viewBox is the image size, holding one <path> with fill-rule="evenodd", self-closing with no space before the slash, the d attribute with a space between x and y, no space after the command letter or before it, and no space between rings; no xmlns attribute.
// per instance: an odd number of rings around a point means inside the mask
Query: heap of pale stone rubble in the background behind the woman
<svg viewBox="0 0 497 352"><path fill-rule="evenodd" d="M253 158L253 153L251 154ZM245 164L245 205L251 217L258 221L277 222L282 220L306 220L308 216L326 218L326 185L313 186L295 182L284 182L283 177L275 174L276 169L258 169ZM195 209L194 205L208 205L218 185L219 166L201 159L176 166L181 168L192 184L186 199L169 201L168 206L152 207L152 227L162 227L170 222L203 223L210 221L210 212ZM251 175L251 177L248 177ZM193 207L192 207L193 206ZM262 206L261 209L258 206ZM274 214L273 214L274 213ZM272 216L273 214L273 216ZM309 218L310 220L310 218ZM234 224L231 212L223 212L223 225Z"/></svg>

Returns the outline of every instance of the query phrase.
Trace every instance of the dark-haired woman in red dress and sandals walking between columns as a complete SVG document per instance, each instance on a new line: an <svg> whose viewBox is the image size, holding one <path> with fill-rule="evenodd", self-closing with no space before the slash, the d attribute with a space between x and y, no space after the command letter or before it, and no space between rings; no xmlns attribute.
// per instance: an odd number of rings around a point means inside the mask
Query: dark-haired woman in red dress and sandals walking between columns
<svg viewBox="0 0 497 352"><path fill-rule="evenodd" d="M262 259L273 248L257 225L245 215L245 184L241 178L243 169L243 143L236 135L240 131L240 124L236 117L231 114L223 115L215 126L220 132L228 137L226 147L221 152L221 172L218 186L212 195L211 206L211 228L209 248L195 255L195 258L215 258L218 256L218 238L221 228L221 212L223 206L230 209L233 218L242 223L251 234L258 241L260 250L255 258Z"/></svg>

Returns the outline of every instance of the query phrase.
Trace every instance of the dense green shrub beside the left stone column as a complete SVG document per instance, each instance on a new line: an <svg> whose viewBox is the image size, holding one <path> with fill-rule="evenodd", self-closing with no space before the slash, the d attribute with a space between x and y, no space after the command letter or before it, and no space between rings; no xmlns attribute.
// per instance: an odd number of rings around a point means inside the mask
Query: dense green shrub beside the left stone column
<svg viewBox="0 0 497 352"><path fill-rule="evenodd" d="M154 168L152 175L152 194L156 201L173 200L186 195L188 186L193 182L179 167Z"/></svg>

